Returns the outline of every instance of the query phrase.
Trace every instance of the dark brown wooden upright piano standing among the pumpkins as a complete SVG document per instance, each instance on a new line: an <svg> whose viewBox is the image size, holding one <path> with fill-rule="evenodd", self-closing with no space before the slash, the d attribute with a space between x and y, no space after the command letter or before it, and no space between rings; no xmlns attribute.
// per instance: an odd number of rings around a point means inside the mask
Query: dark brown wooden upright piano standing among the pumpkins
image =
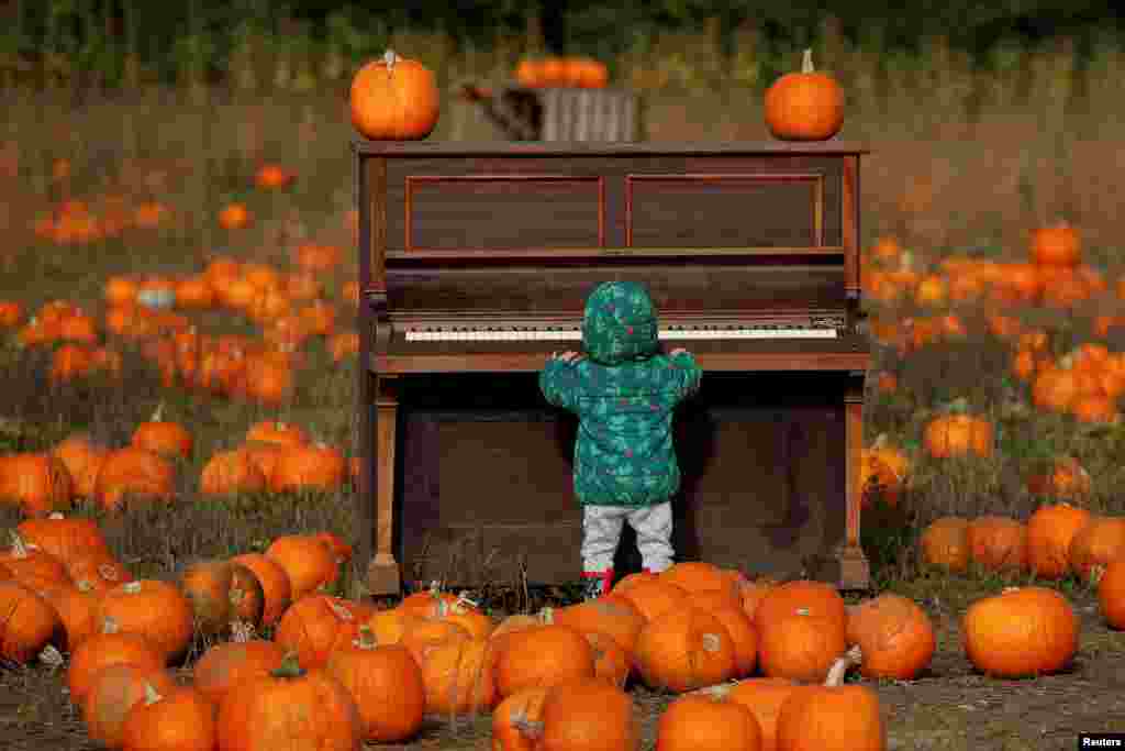
<svg viewBox="0 0 1125 751"><path fill-rule="evenodd" d="M704 374L677 560L864 589L858 145L353 142L372 594L582 571L576 418L537 375L601 281ZM627 531L619 572L639 569Z"/></svg>

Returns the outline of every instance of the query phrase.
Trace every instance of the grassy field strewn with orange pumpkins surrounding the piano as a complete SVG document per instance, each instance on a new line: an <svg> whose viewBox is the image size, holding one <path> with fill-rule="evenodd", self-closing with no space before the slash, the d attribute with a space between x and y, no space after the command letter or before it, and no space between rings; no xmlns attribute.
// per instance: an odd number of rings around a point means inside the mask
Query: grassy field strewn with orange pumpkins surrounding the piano
<svg viewBox="0 0 1125 751"><path fill-rule="evenodd" d="M757 37L721 70L710 44L674 35L591 86L640 93L652 141L773 138ZM523 50L390 46L441 82L431 140L494 137L458 82L513 79ZM6 90L0 746L1005 751L1125 731L1125 45L994 71L940 38L889 62L831 24L809 46L839 138L871 149L862 594L704 561L586 604L577 571L501 569L372 599L346 81Z"/></svg>

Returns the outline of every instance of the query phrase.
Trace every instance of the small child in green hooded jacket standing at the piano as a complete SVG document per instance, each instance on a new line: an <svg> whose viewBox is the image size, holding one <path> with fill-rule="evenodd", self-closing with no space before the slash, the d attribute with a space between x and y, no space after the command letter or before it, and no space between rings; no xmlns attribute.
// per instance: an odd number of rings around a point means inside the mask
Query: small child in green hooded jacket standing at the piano
<svg viewBox="0 0 1125 751"><path fill-rule="evenodd" d="M683 349L659 352L657 311L642 285L608 281L586 299L588 358L552 354L539 375L547 401L578 414L574 490L583 506L586 599L609 591L628 519L646 571L672 565L672 503L680 467L672 445L676 404L702 370Z"/></svg>

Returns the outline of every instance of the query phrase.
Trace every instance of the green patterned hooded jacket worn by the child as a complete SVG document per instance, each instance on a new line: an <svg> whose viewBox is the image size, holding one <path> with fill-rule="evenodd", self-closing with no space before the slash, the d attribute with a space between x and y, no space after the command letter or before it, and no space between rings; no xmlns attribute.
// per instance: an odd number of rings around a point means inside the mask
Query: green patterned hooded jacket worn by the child
<svg viewBox="0 0 1125 751"><path fill-rule="evenodd" d="M659 352L657 311L642 285L608 281L586 299L586 357L550 359L547 401L578 414L574 490L583 504L652 506L680 489L672 445L676 404L699 388L690 352Z"/></svg>

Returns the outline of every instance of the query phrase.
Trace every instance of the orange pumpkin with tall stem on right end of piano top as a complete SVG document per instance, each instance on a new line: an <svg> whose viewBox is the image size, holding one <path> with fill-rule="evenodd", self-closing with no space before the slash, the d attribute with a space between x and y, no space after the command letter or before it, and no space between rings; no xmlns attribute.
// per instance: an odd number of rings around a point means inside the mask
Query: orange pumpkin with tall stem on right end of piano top
<svg viewBox="0 0 1125 751"><path fill-rule="evenodd" d="M844 90L812 66L806 50L799 73L786 73L766 90L766 126L782 141L826 141L844 124Z"/></svg>

